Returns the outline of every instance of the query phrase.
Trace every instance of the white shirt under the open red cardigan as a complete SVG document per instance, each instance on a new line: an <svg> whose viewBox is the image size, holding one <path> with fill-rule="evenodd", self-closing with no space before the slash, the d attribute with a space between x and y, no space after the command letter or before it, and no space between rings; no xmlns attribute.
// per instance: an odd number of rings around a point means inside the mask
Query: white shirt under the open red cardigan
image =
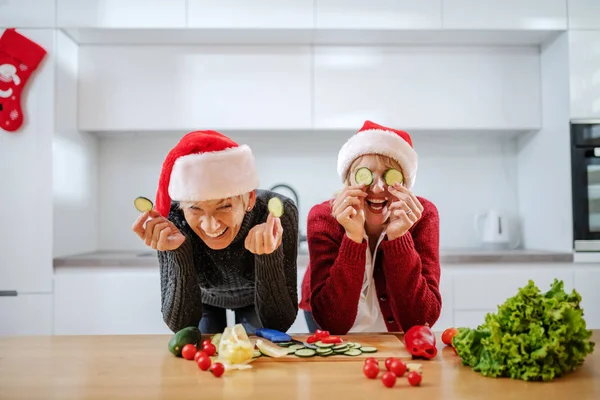
<svg viewBox="0 0 600 400"><path fill-rule="evenodd" d="M375 279L373 278L377 249L384 237L385 230L381 232L379 240L377 240L377 245L373 250L373 254L371 254L369 237L366 233L364 235L364 239L367 241L365 275L360 291L360 300L358 301L358 313L350 332L387 332L387 326L383 320L381 308L379 308L377 289L375 287Z"/></svg>

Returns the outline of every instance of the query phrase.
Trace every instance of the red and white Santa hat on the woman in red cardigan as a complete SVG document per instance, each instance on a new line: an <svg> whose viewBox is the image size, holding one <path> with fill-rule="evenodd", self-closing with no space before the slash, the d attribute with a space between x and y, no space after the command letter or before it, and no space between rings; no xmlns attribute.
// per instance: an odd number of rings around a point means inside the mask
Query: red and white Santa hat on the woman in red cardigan
<svg viewBox="0 0 600 400"><path fill-rule="evenodd" d="M338 154L337 172L342 182L354 160L365 154L380 154L395 160L402 168L406 187L412 188L418 162L407 132L365 121L362 128L344 143Z"/></svg>

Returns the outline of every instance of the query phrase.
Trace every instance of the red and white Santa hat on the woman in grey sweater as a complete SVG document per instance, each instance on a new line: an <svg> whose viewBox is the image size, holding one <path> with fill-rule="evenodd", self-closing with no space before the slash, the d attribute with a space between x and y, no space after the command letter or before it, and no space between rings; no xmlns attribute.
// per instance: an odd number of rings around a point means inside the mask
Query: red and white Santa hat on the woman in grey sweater
<svg viewBox="0 0 600 400"><path fill-rule="evenodd" d="M156 210L167 217L171 200L225 199L258 188L252 150L215 131L186 134L165 159Z"/></svg>

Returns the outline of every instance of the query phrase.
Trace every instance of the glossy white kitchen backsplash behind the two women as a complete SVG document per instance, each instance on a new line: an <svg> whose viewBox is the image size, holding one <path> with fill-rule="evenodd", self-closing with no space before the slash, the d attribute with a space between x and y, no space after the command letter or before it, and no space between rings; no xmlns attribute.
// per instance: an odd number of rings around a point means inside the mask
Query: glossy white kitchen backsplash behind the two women
<svg viewBox="0 0 600 400"><path fill-rule="evenodd" d="M252 147L261 188L284 183L298 192L300 230L305 234L310 207L340 188L337 152L352 132L225 133ZM477 247L474 215L479 211L496 208L511 217L517 214L516 142L489 135L412 133L420 157L414 191L439 209L442 248ZM131 231L138 215L133 199L154 199L162 161L179 137L165 133L99 139L99 249L146 249Z"/></svg>

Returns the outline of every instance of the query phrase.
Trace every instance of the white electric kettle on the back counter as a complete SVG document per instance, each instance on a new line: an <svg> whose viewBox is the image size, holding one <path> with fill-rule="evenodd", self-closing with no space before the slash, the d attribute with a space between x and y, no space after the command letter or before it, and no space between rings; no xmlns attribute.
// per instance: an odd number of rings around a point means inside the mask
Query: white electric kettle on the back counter
<svg viewBox="0 0 600 400"><path fill-rule="evenodd" d="M497 210L487 210L475 215L475 229L485 248L501 250L519 245L518 242L515 243L508 218Z"/></svg>

